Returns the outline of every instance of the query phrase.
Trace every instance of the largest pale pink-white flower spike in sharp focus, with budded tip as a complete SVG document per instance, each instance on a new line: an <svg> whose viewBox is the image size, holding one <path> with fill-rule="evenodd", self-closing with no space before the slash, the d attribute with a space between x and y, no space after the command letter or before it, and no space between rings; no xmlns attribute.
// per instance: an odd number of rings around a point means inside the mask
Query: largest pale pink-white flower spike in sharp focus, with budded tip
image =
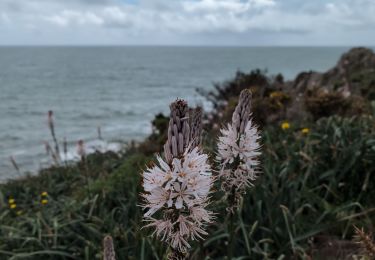
<svg viewBox="0 0 375 260"><path fill-rule="evenodd" d="M187 103L177 100L170 109L165 159L158 156L158 164L143 172L142 206L145 227L154 228L153 235L170 246L168 258L184 259L190 241L207 235L204 228L213 220L206 207L214 179L208 156L191 142L200 140L200 132L194 126L191 135Z"/></svg>

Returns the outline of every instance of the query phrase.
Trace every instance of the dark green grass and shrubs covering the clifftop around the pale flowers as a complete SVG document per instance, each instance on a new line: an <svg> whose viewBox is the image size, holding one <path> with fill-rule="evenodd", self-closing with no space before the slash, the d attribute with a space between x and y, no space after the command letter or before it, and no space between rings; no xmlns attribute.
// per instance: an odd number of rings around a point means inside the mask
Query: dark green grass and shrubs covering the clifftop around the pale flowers
<svg viewBox="0 0 375 260"><path fill-rule="evenodd" d="M337 106L345 104L347 109L348 99L337 98L332 90L334 111L301 109L296 115L290 113L296 93L276 87L281 82L280 76L268 78L260 71L238 73L210 94L215 110L206 115L204 149L214 162L220 127L216 122L230 118L242 89L252 89L254 116L262 129L262 174L241 202L231 253L218 184L210 206L216 222L208 227L206 240L193 245L192 259L223 259L229 254L237 259L341 259L356 253L353 225L373 231L371 95L363 98L368 109L346 113ZM308 98L310 92L302 95ZM281 127L285 121L287 129ZM1 184L0 259L101 259L102 240L108 234L118 259L165 259L165 246L141 229L138 205L140 173L161 151L167 122L156 116L153 134L119 155L96 153L76 165ZM333 246L328 249L326 241ZM350 246L336 246L344 242Z"/></svg>

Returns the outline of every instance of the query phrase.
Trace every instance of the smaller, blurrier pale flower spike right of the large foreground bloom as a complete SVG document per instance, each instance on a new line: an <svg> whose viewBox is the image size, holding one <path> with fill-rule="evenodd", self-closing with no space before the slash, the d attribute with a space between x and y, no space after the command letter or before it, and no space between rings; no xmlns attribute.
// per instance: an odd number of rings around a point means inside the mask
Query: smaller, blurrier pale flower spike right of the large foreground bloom
<svg viewBox="0 0 375 260"><path fill-rule="evenodd" d="M251 92L245 89L240 94L232 122L221 129L218 142L219 177L232 213L259 172L260 135L251 120L250 107Z"/></svg>

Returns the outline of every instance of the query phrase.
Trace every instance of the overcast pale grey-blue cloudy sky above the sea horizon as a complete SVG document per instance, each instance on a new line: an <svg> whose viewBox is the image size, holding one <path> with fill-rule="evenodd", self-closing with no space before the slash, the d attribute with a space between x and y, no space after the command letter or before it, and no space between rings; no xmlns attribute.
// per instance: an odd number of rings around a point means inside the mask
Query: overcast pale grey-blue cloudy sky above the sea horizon
<svg viewBox="0 0 375 260"><path fill-rule="evenodd" d="M0 0L0 45L375 45L375 0Z"/></svg>

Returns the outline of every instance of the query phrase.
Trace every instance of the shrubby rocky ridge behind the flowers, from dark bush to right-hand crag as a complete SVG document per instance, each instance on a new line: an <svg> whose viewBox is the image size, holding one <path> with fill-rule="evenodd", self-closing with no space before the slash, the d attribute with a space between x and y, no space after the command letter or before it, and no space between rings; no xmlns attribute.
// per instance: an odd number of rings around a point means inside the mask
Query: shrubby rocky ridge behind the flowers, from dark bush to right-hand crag
<svg viewBox="0 0 375 260"><path fill-rule="evenodd" d="M233 80L216 84L216 91L201 91L219 112L209 120L229 119L244 88L253 93L253 114L260 125L371 113L371 101L375 100L375 53L368 48L353 48L327 72L302 72L286 82L282 75L268 77L260 70L238 72Z"/></svg>

